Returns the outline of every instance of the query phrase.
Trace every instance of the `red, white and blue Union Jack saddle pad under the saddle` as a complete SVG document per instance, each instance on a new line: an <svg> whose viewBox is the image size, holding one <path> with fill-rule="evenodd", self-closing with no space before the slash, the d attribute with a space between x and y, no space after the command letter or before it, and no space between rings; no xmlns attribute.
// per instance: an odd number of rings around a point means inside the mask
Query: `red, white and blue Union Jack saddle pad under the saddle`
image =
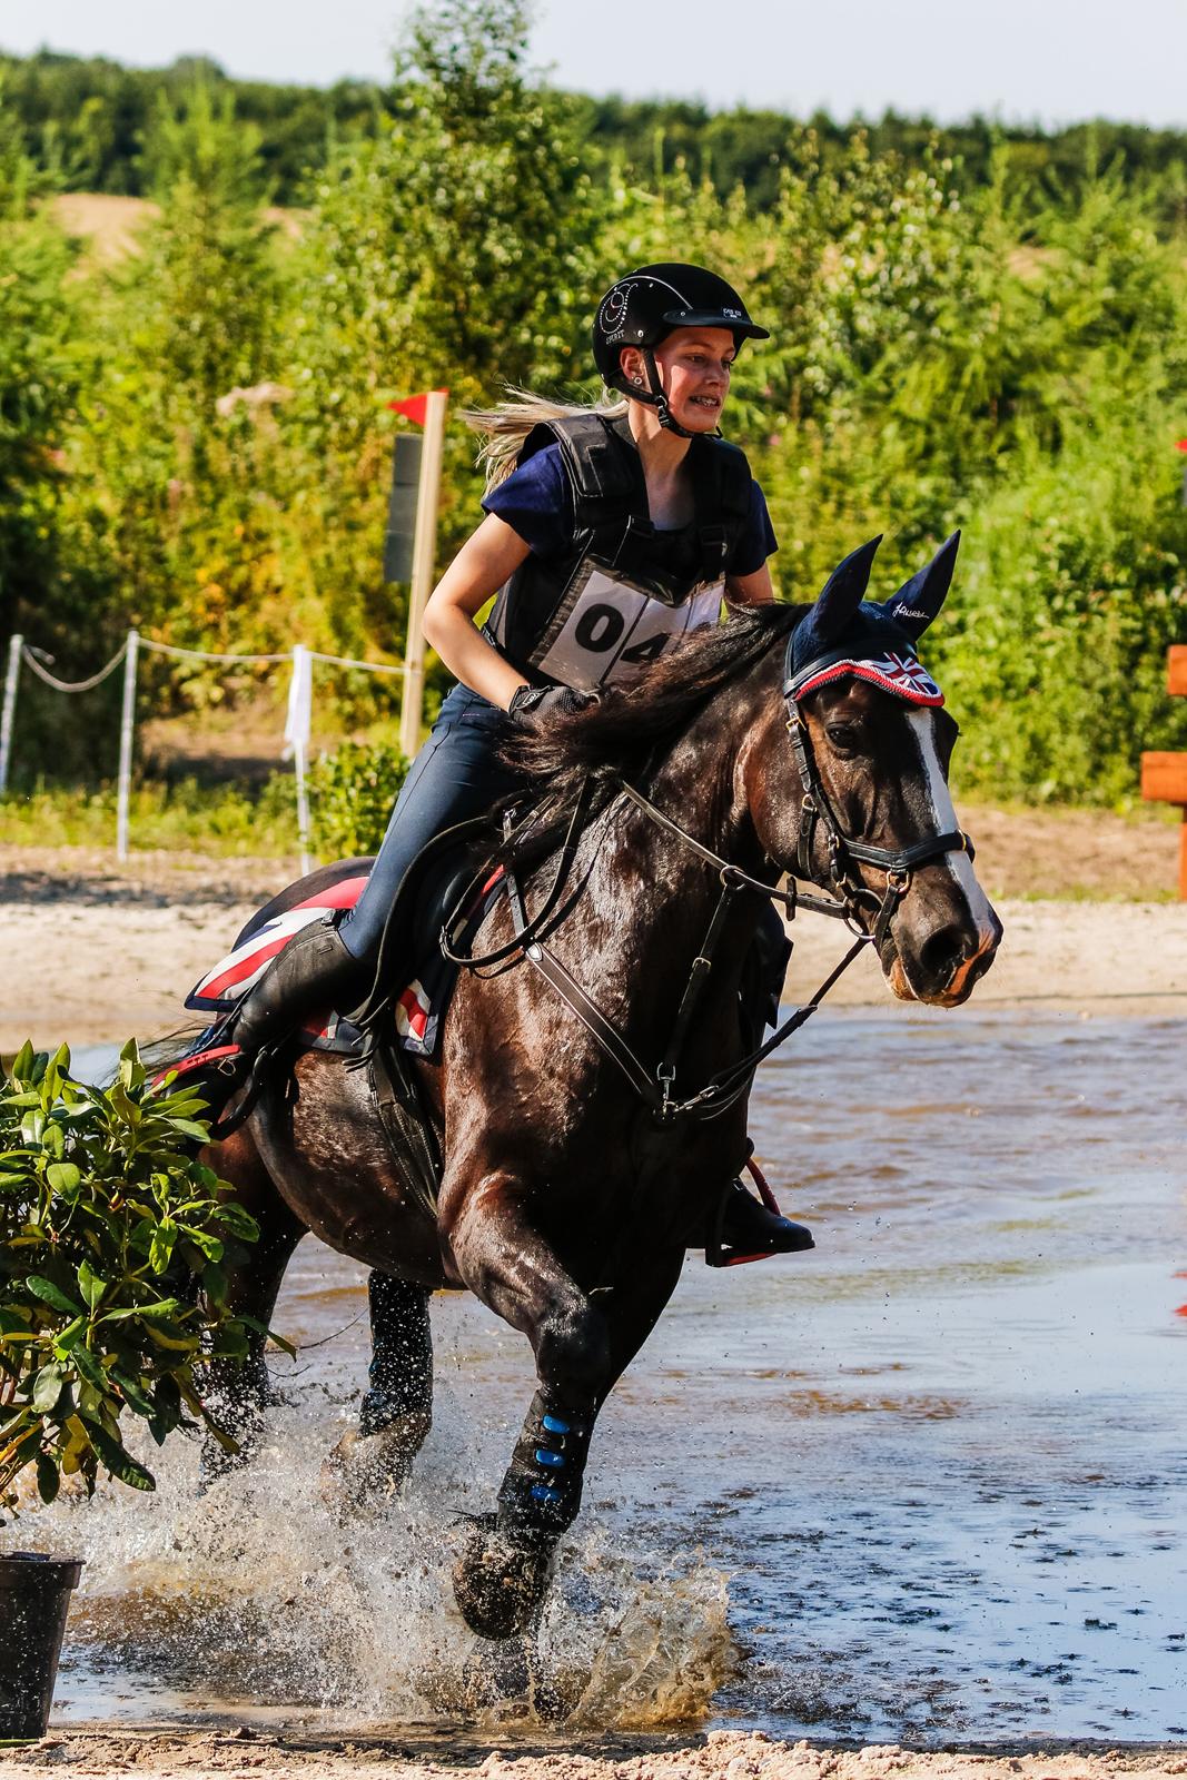
<svg viewBox="0 0 1187 1780"><path fill-rule="evenodd" d="M290 885L251 917L226 958L194 984L185 1006L192 1013L231 1013L295 933L336 910L354 908L367 888L370 867L372 860L343 860ZM452 975L434 970L432 961L404 988L395 1002L395 1029L404 1050L432 1056L450 988ZM303 1029L301 1040L310 1050L349 1056L361 1047L363 1034L342 1015L326 1009Z"/></svg>

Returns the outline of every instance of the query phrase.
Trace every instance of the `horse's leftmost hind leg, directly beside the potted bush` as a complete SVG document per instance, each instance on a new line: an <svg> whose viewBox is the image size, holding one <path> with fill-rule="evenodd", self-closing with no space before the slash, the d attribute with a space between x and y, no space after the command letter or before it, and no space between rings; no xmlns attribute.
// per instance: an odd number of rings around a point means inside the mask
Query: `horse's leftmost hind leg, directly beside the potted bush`
<svg viewBox="0 0 1187 1780"><path fill-rule="evenodd" d="M230 1180L237 1202L260 1226L260 1239L251 1244L247 1258L228 1271L228 1308L233 1314L246 1314L267 1328L272 1321L285 1267L304 1235L304 1225L297 1223L276 1191L247 1127L219 1145L217 1152L210 1153L210 1164L222 1180ZM267 1337L253 1331L246 1360L212 1360L210 1363L210 1410L219 1426L237 1442L238 1452L224 1452L214 1438L206 1438L203 1445L203 1476L206 1479L247 1463L260 1445L265 1412L278 1401L263 1358L265 1346Z"/></svg>

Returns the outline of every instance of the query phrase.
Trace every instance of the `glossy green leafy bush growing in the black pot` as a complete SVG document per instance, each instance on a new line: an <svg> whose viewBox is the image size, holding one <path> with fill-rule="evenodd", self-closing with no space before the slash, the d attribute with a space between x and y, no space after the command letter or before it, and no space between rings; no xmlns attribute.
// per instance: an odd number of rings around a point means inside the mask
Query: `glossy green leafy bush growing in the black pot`
<svg viewBox="0 0 1187 1780"><path fill-rule="evenodd" d="M212 1360L247 1355L251 1317L226 1307L228 1264L254 1221L196 1159L203 1102L146 1093L135 1043L110 1088L69 1050L14 1059L0 1091L0 1508L34 1467L44 1502L62 1474L87 1493L100 1465L133 1490L149 1470L125 1445L139 1417L160 1445L205 1424Z"/></svg>

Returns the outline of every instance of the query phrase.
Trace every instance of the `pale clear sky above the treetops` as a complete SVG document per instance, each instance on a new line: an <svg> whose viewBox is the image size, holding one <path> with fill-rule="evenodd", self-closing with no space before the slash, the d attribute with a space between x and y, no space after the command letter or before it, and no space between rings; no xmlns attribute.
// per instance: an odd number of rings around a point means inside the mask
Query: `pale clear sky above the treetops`
<svg viewBox="0 0 1187 1780"><path fill-rule="evenodd" d="M383 80L408 0L0 0L0 48ZM1187 0L537 0L557 85L721 109L1187 128Z"/></svg>

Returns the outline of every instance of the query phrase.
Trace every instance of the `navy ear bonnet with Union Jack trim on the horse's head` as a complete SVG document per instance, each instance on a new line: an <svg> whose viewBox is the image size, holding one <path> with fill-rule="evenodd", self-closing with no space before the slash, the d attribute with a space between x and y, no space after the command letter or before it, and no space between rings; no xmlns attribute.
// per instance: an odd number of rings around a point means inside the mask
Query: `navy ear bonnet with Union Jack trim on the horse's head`
<svg viewBox="0 0 1187 1780"><path fill-rule="evenodd" d="M820 598L787 639L783 691L806 698L831 680L854 675L911 705L943 705L943 692L915 653L952 586L961 534L940 546L927 568L893 598L865 600L881 538L872 538L833 570Z"/></svg>

